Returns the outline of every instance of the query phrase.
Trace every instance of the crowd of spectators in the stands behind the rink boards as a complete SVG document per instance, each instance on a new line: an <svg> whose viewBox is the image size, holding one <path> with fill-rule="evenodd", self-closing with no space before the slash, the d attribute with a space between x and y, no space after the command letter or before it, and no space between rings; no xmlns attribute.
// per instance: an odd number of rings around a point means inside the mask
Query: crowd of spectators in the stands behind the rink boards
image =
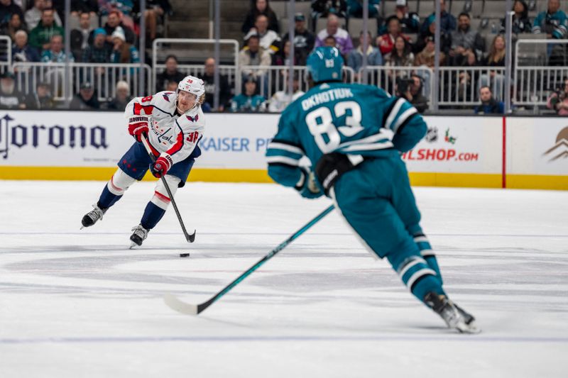
<svg viewBox="0 0 568 378"><path fill-rule="evenodd" d="M425 0L422 0L425 1ZM505 77L501 71L488 69L484 73L474 74L466 70L468 67L505 67L506 39L504 18L496 27L492 27L491 38L481 29L472 27L471 14L467 9L460 9L454 14L447 9L446 0L439 1L440 46L439 65L442 67L461 67L457 82L446 85L456 85L447 90L469 96L469 100L479 100L481 105L477 113L502 112L499 106L505 89ZM449 0L448 0L449 1ZM540 33L546 38L562 39L568 37L568 18L560 9L559 0L546 0L547 10L537 14L535 18L528 16L528 4L523 0L513 1L513 34ZM0 0L0 28L4 35L13 41L13 62L54 62L67 60L63 49L64 30L62 25L62 1L33 0L28 1L28 9L22 9L18 0ZM290 42L288 30L280 30L280 18L271 9L268 0L251 0L251 8L244 17L242 24L243 48L239 52L238 62L242 67L241 94L233 96L234 88L229 86L228 78L219 78L219 107L214 107L214 71L216 62L208 58L204 62L204 74L200 76L206 83L207 99L204 105L212 111L278 111L293 101L300 91L299 78L293 82L293 96L285 88L268 90L268 77L281 75L283 83L288 83L283 70L266 70L249 66L286 66L305 65L307 56L317 46L329 45L339 49L347 67L355 72L355 80L361 79L361 67L366 56L368 67L385 67L385 76L377 84L399 96L405 96L413 102L420 111L428 108L429 99L424 94L430 93L430 70L435 65L435 14L420 17L410 11L406 0L395 0L393 14L383 14L381 6L384 1L368 0L368 16L376 19L375 30L368 30L359 35L349 33L349 21L361 18L364 9L361 0L312 0L310 14L295 13L294 38ZM147 0L148 8L144 14L139 9L139 1L133 0L73 0L71 1L72 15L75 26L71 30L70 45L72 54L68 57L71 62L87 63L136 63L140 62L139 27L141 17L146 21L146 40L150 41L158 35L160 17L171 13L168 0ZM503 12L504 13L504 12ZM324 21L321 30L315 30L318 20ZM308 25L311 21L311 27ZM321 24L321 23L320 23ZM364 40L368 41L364 51ZM293 55L291 53L293 46ZM144 48L144 47L142 47ZM565 60L565 50L554 50L552 56L562 56ZM404 69L413 67L413 69ZM133 68L131 70L134 70ZM98 74L104 74L99 70ZM175 90L177 83L185 72L178 70L178 58L170 55L165 59L165 69L159 72L155 80L157 90ZM0 100L4 96L4 88L9 88L9 80L3 78L0 88ZM13 75L12 75L13 76ZM6 86L4 86L6 79ZM80 109L119 109L129 98L129 87L132 83L116 84L116 99L109 99L99 104L96 91L92 88L92 77L83 78L84 82L79 93L72 101L73 106ZM395 83L389 84L389 83ZM49 95L47 84L40 83L41 93ZM121 86L121 97L118 98L118 84ZM39 84L38 84L39 85ZM287 84L285 84L286 86ZM465 91L464 88L474 87L475 91ZM53 89L52 89L53 90ZM38 89L39 91L39 89ZM53 101L39 99L35 91L35 99L29 106L53 106ZM487 91L490 96L488 96ZM95 92L95 93L93 93ZM274 93L267 99L263 94ZM14 94L18 96L18 94ZM473 96L473 97L472 97ZM551 109L564 109L560 94L549 101ZM232 98L231 98L232 97ZM43 97L42 97L43 98ZM0 101L0 106L5 106ZM28 101L23 101L28 108ZM32 104L33 103L33 104ZM35 105L34 105L35 104ZM18 107L22 103L18 102ZM278 110L276 110L278 109ZM568 109L568 106L566 107Z"/></svg>

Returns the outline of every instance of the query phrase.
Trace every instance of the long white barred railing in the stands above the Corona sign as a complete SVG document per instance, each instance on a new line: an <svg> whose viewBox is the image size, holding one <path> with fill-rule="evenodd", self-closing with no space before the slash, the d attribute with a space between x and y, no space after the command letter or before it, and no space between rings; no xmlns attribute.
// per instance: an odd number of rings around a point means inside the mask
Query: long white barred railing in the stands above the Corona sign
<svg viewBox="0 0 568 378"><path fill-rule="evenodd" d="M55 101L65 101L79 93L84 82L89 82L99 101L107 101L116 95L116 83L129 84L133 96L151 92L151 67L143 65L146 88L139 88L140 64L124 63L70 63L70 83L65 85L65 63L17 62L13 64L17 88L23 94L35 91L38 83L50 84ZM70 88L71 90L68 90Z"/></svg>

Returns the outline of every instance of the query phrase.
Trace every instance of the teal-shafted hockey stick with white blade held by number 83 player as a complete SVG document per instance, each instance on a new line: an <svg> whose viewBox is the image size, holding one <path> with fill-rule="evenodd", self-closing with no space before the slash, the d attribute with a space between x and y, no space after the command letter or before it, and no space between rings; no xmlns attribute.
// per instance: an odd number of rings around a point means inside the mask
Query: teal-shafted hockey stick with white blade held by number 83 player
<svg viewBox="0 0 568 378"><path fill-rule="evenodd" d="M243 279L248 277L252 272L254 272L256 269L261 267L265 262L270 260L278 252L286 248L286 246L292 243L296 238L298 238L298 236L302 235L302 233L305 233L307 230L309 230L312 226L315 225L315 223L320 221L324 216L327 216L327 214L330 211L332 211L333 208L334 206L332 205L329 206L324 211L322 211L318 216L316 216L311 221L306 223L305 226L300 228L300 230L297 230L295 233L293 233L293 235L290 235L290 238L284 240L282 243L280 243L280 245L278 245L278 247L268 252L268 255L261 258L261 260L258 260L258 262L256 262L255 265L250 267L246 272L241 274L239 277L236 277L236 279L233 282L231 282L226 287L224 287L222 291L219 291L217 294L212 296L211 299L209 299L208 301L204 301L202 304L187 304L184 301L180 301L180 299L178 299L173 294L165 294L164 296L165 304L167 304L170 308L173 308L175 311L178 311L180 313L185 313L187 315L197 315L199 313L202 313L205 310L205 308L214 304L215 301L217 301L219 298L221 298L226 293L228 293L229 290L236 287L236 285L239 284L239 282L241 282Z"/></svg>

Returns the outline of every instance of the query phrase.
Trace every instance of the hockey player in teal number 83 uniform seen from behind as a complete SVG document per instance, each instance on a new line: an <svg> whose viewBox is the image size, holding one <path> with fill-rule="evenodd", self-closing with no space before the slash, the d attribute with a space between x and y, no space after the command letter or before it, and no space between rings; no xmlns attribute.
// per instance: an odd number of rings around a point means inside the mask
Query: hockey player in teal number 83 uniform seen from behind
<svg viewBox="0 0 568 378"><path fill-rule="evenodd" d="M371 255L386 257L449 328L479 332L474 317L442 288L400 158L425 135L425 121L405 99L370 85L344 84L342 66L336 48L316 48L308 57L312 88L280 116L266 152L268 174L304 197L329 196ZM300 165L303 156L313 172Z"/></svg>

